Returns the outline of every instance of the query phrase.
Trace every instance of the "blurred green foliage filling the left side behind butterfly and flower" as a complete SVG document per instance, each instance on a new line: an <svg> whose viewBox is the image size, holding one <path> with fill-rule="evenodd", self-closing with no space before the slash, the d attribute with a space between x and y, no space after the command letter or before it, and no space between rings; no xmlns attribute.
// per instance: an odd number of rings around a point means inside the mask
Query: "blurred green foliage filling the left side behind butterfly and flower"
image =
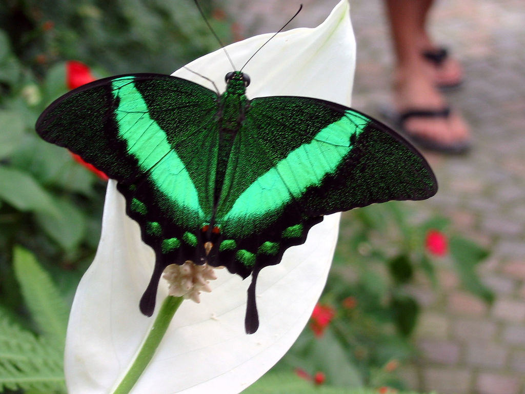
<svg viewBox="0 0 525 394"><path fill-rule="evenodd" d="M229 42L224 13L200 3ZM68 90L65 62L171 74L217 46L190 0L0 2L0 391L65 392L68 309L100 236L105 182L34 130Z"/></svg>

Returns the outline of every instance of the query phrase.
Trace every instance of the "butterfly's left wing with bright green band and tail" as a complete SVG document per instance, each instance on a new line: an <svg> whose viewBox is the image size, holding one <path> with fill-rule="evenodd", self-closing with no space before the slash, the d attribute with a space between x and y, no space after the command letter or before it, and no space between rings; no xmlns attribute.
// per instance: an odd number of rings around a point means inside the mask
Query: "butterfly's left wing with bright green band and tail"
<svg viewBox="0 0 525 394"><path fill-rule="evenodd" d="M116 179L128 215L156 253L141 301L151 315L164 267L192 258L213 212L217 95L184 79L137 74L72 90L40 116L42 138L80 154Z"/></svg>

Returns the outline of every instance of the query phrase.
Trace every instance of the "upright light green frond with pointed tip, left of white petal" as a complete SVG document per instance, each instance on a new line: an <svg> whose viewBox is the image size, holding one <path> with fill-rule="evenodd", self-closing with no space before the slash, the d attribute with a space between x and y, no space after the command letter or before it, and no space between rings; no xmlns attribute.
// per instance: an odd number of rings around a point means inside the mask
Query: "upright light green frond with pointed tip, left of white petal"
<svg viewBox="0 0 525 394"><path fill-rule="evenodd" d="M54 344L60 354L64 349L68 309L49 274L33 254L15 247L13 266L31 317L43 337Z"/></svg>

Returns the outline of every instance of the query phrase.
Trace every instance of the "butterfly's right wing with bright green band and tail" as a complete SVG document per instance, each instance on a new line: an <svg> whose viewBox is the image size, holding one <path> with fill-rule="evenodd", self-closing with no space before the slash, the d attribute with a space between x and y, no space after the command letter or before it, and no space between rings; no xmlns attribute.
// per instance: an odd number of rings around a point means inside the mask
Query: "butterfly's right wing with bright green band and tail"
<svg viewBox="0 0 525 394"><path fill-rule="evenodd" d="M422 200L437 191L425 159L395 131L319 99L252 100L232 151L217 220L224 222L225 239L235 240L235 253L225 247L224 254L239 271L243 265L253 271L248 332L258 325L257 273L277 264L289 246L303 243L322 215Z"/></svg>

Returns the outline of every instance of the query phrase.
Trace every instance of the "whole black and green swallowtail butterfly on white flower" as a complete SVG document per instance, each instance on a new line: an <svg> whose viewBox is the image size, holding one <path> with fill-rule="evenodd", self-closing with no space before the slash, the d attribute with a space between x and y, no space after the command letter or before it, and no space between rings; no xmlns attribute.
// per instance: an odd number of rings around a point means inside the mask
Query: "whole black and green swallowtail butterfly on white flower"
<svg viewBox="0 0 525 394"><path fill-rule="evenodd" d="M323 215L423 200L437 183L411 144L359 111L307 97L249 100L240 71L226 82L219 95L160 74L100 79L53 102L36 130L118 181L156 256L142 313L153 314L167 265L223 265L252 275L245 325L254 333L259 271Z"/></svg>

